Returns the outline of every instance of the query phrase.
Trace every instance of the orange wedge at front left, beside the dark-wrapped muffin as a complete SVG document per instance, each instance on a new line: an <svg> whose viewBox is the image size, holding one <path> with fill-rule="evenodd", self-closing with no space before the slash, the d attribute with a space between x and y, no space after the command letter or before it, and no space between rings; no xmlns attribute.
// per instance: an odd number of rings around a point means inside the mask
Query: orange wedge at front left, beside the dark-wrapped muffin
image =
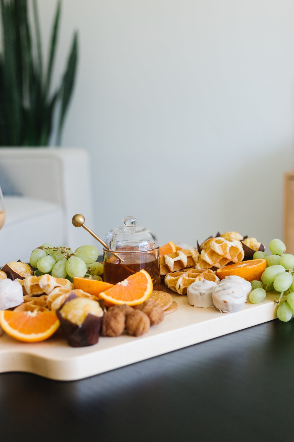
<svg viewBox="0 0 294 442"><path fill-rule="evenodd" d="M23 342L48 339L60 326L55 312L0 311L0 325L7 335Z"/></svg>

